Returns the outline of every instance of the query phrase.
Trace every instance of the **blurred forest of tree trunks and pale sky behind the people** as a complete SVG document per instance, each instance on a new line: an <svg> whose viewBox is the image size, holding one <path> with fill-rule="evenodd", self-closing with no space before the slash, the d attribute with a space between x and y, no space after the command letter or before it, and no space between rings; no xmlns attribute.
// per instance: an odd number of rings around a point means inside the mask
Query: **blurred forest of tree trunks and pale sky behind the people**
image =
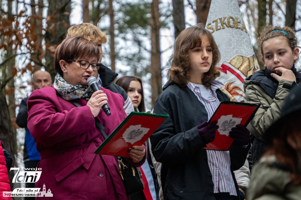
<svg viewBox="0 0 301 200"><path fill-rule="evenodd" d="M222 0L221 0L222 1ZM206 24L211 0L2 0L0 2L0 136L14 167L23 167L24 131L16 120L31 93L31 74L55 76L53 55L67 29L93 23L108 38L102 63L123 75L142 77L147 110L166 82L167 60L185 27ZM259 29L291 26L301 39L301 0L238 0L254 50ZM300 46L300 45L299 45ZM258 60L261 60L257 58ZM300 62L296 65L300 71ZM261 66L262 68L262 66ZM12 180L13 171L9 172ZM12 189L14 186L11 182Z"/></svg>

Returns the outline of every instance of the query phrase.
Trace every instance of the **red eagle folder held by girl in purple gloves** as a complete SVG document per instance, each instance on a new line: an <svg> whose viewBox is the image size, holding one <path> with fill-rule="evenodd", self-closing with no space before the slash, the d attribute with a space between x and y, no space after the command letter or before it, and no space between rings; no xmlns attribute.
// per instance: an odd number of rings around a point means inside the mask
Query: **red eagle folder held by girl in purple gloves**
<svg viewBox="0 0 301 200"><path fill-rule="evenodd" d="M217 121L219 128L213 142L204 147L208 150L229 150L234 139L229 136L229 132L237 124L247 126L253 119L259 105L244 102L221 102L209 120Z"/></svg>

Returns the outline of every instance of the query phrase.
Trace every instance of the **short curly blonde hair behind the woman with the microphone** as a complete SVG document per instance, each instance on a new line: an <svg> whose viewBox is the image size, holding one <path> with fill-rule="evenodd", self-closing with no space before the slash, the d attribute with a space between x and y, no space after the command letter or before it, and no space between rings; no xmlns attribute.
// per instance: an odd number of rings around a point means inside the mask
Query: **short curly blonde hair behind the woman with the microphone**
<svg viewBox="0 0 301 200"><path fill-rule="evenodd" d="M79 25L71 26L67 30L66 38L70 36L82 36L97 44L107 42L107 37L104 32L102 32L97 26L90 23L81 23Z"/></svg>

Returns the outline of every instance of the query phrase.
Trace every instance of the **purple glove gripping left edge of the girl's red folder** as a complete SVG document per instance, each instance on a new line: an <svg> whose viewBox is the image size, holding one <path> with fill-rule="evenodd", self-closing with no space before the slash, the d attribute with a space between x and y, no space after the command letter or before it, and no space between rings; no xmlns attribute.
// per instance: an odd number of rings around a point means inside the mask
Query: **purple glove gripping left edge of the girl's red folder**
<svg viewBox="0 0 301 200"><path fill-rule="evenodd" d="M216 124L217 121L213 121L210 123L204 121L203 123L197 126L197 131L199 132L200 137L202 138L205 144L208 144L214 140L215 131L219 128L219 126L217 126Z"/></svg>

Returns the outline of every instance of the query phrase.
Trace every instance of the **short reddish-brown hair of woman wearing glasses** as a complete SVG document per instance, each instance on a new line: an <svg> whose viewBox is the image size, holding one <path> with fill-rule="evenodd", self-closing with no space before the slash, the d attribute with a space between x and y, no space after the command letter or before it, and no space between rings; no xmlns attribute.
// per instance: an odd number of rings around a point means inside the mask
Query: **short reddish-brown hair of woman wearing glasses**
<svg viewBox="0 0 301 200"><path fill-rule="evenodd" d="M70 63L68 60L83 59L85 57L96 57L99 60L101 53L98 45L81 36L72 36L64 39L54 53L55 71L63 75L60 60Z"/></svg>

